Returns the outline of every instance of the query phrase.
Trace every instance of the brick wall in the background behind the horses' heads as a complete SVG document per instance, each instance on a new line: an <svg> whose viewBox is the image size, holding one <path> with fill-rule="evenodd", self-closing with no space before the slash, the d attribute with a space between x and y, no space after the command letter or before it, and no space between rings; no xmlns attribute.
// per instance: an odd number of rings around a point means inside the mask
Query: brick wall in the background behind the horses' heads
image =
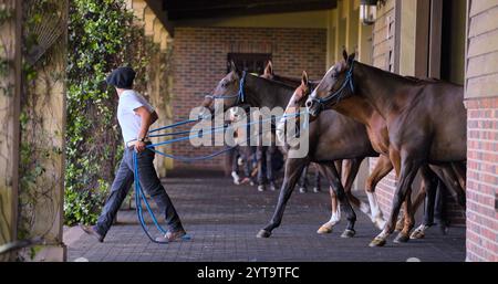
<svg viewBox="0 0 498 284"><path fill-rule="evenodd" d="M300 77L303 70L312 78L325 72L326 30L262 28L176 28L174 40L175 120L188 117L227 71L227 53L272 53L276 73ZM173 152L199 156L217 148L194 148L188 141L175 144ZM219 148L218 148L219 149ZM175 168L221 169L224 157L184 164Z"/></svg>

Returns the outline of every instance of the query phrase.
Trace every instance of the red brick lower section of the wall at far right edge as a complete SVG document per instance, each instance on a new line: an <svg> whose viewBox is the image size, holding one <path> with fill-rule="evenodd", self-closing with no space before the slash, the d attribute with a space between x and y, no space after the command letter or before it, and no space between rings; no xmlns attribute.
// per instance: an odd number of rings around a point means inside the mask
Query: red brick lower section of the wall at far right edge
<svg viewBox="0 0 498 284"><path fill-rule="evenodd" d="M467 260L498 261L498 97L466 102Z"/></svg>

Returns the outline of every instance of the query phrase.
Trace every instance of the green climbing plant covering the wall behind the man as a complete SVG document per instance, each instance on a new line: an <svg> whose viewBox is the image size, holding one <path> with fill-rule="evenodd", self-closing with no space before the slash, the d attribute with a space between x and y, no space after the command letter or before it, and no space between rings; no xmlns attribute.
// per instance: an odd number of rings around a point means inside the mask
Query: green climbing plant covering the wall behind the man
<svg viewBox="0 0 498 284"><path fill-rule="evenodd" d="M64 215L93 223L103 204L123 143L117 95L104 83L115 67L137 71L145 90L148 56L143 29L123 0L73 0L69 14L68 123Z"/></svg>

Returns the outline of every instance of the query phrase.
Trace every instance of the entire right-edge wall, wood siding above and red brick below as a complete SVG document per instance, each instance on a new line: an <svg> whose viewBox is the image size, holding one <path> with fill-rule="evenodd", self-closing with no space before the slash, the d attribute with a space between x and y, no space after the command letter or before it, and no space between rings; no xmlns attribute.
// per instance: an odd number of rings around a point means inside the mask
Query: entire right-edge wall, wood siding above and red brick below
<svg viewBox="0 0 498 284"><path fill-rule="evenodd" d="M469 1L466 56L467 260L498 261L498 15Z"/></svg>

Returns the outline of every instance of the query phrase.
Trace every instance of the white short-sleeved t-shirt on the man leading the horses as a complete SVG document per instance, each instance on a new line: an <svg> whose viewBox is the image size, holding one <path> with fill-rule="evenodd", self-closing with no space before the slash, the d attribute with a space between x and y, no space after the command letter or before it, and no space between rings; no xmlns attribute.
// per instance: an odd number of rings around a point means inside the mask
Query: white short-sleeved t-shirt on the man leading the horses
<svg viewBox="0 0 498 284"><path fill-rule="evenodd" d="M151 114L154 113L154 107L137 92L126 90L121 94L117 105L117 120L120 122L125 145L138 136L142 118L135 114L135 109L141 106L145 106Z"/></svg>

